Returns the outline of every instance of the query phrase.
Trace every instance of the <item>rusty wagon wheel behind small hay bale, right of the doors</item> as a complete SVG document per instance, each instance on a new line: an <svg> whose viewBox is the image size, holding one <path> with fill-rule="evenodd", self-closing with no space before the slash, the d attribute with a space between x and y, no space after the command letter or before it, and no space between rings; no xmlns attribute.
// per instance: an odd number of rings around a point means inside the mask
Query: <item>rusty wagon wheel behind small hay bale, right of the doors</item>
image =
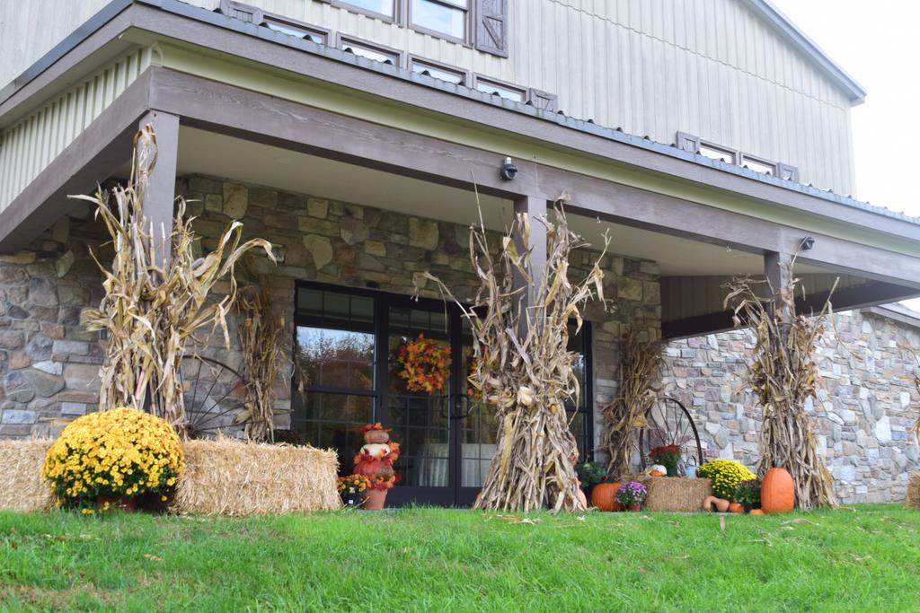
<svg viewBox="0 0 920 613"><path fill-rule="evenodd" d="M639 465L644 471L648 466L649 451L661 445L678 445L681 455L693 458L696 466L703 463L703 446L690 412L684 403L671 396L662 396L649 407L645 414L646 425L638 431Z"/></svg>

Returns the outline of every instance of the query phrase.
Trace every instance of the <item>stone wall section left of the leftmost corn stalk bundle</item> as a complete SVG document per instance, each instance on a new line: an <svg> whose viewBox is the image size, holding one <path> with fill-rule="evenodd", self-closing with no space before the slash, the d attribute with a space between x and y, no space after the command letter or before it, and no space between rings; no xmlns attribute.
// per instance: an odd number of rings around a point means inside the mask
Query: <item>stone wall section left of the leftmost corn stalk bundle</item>
<svg viewBox="0 0 920 613"><path fill-rule="evenodd" d="M102 298L90 249L111 254L88 208L76 214L0 256L0 437L55 436L97 407L102 348L81 315Z"/></svg>

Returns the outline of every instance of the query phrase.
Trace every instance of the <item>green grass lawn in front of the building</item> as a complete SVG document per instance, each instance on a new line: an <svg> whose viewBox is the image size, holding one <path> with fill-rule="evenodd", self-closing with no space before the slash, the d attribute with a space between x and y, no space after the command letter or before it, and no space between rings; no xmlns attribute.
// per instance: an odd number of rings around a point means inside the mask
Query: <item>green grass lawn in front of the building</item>
<svg viewBox="0 0 920 613"><path fill-rule="evenodd" d="M920 609L920 512L0 513L0 605L129 610Z"/></svg>

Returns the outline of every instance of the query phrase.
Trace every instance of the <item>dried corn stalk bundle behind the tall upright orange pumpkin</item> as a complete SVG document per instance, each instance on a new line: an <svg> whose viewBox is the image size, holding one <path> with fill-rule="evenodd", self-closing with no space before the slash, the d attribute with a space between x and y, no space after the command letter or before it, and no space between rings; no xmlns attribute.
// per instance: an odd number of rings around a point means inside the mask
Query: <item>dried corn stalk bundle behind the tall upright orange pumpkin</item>
<svg viewBox="0 0 920 613"><path fill-rule="evenodd" d="M805 412L805 401L816 398L819 377L814 353L827 331L831 304L825 302L814 317L797 314L795 293L800 279L793 276L791 262L783 266L789 287L780 288L776 298L757 295L755 287L764 286L765 281L735 278L726 286L725 305L732 306L735 325L751 327L756 336L746 380L764 409L757 473L763 476L775 466L788 470L796 484L799 508L836 506L834 480L818 453L814 428Z"/></svg>

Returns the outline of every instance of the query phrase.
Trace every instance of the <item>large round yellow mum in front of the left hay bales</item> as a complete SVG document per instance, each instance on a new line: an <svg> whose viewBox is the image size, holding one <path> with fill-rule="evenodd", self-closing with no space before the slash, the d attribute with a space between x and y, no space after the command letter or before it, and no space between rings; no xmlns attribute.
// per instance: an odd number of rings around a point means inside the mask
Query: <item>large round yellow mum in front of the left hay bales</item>
<svg viewBox="0 0 920 613"><path fill-rule="evenodd" d="M182 474L178 435L159 417L129 408L75 419L52 444L41 469L59 503L84 508L100 496L165 494Z"/></svg>

